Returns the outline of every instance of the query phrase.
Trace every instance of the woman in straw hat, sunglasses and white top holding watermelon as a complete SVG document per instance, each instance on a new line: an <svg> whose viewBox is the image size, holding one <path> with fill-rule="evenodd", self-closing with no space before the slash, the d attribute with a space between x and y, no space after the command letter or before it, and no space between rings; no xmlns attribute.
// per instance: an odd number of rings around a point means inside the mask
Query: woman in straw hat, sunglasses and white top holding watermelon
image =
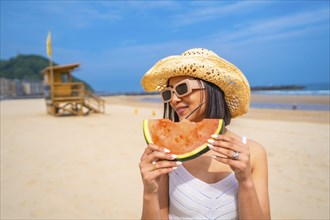
<svg viewBox="0 0 330 220"><path fill-rule="evenodd" d="M221 118L228 126L250 103L243 73L202 48L160 60L141 84L161 92L164 118L173 121ZM183 164L162 146L145 148L142 219L270 219L264 148L227 127L208 142L210 151Z"/></svg>

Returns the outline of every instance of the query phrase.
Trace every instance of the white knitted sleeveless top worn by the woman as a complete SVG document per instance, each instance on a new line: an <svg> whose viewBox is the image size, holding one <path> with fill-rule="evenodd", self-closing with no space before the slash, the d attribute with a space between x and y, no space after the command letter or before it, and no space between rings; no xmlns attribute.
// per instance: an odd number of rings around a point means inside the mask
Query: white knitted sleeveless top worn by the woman
<svg viewBox="0 0 330 220"><path fill-rule="evenodd" d="M237 190L235 173L208 184L181 165L169 174L169 219L238 219Z"/></svg>

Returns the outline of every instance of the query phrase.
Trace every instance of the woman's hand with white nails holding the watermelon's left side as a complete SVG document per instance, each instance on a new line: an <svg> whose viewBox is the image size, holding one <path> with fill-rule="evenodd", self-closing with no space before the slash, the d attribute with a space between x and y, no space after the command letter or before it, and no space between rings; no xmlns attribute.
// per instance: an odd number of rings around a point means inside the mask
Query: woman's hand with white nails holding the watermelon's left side
<svg viewBox="0 0 330 220"><path fill-rule="evenodd" d="M182 164L174 161L177 156L163 147L149 144L140 160L140 172L146 193L158 192L158 184L163 174L167 174Z"/></svg>

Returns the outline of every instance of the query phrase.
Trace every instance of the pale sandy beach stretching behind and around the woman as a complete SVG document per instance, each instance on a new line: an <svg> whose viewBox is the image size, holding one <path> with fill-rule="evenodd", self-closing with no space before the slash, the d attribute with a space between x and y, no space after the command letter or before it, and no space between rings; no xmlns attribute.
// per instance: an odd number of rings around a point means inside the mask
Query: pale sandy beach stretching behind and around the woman
<svg viewBox="0 0 330 220"><path fill-rule="evenodd" d="M2 100L1 219L139 219L142 120L161 103L112 96L105 114L54 117L43 99ZM293 97L252 97L292 103ZM294 103L329 105L329 97ZM267 150L273 219L329 219L329 111L250 109L228 129Z"/></svg>

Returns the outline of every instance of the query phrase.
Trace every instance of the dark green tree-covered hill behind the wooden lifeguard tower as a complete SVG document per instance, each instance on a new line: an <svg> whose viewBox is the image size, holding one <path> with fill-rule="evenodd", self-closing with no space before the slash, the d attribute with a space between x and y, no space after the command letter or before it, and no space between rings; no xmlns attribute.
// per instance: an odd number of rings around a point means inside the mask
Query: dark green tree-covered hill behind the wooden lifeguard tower
<svg viewBox="0 0 330 220"><path fill-rule="evenodd" d="M41 71L49 65L49 60L39 55L18 55L9 60L0 60L0 77L7 79L43 80ZM57 66L54 63L54 66ZM93 91L93 88L83 80L73 76L74 82L83 82Z"/></svg>

